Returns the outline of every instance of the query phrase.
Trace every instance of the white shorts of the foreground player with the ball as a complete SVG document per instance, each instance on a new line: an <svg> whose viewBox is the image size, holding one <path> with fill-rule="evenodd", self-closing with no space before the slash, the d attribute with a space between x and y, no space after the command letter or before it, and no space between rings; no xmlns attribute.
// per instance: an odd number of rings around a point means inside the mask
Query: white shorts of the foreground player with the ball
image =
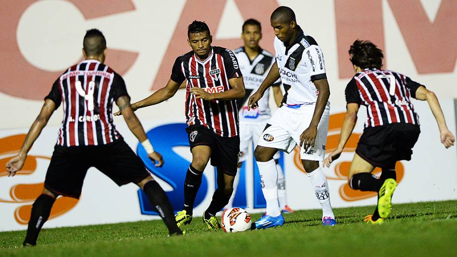
<svg viewBox="0 0 457 257"><path fill-rule="evenodd" d="M291 153L300 143L301 133L309 127L313 114L314 105L299 111L286 106L278 108L267 122L270 126L262 132L258 145ZM327 105L318 125L314 148L305 151L301 147L301 160L324 161L329 116L330 107Z"/></svg>

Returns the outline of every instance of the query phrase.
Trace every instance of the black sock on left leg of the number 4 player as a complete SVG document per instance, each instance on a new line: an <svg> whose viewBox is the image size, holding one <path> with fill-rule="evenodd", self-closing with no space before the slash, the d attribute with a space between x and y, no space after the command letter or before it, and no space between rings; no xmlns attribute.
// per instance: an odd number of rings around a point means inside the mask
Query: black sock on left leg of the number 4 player
<svg viewBox="0 0 457 257"><path fill-rule="evenodd" d="M36 245L38 234L40 233L43 224L48 220L55 200L56 199L47 194L41 194L38 198L36 198L32 205L32 213L30 215L29 226L27 228L27 235L24 240L24 244Z"/></svg>

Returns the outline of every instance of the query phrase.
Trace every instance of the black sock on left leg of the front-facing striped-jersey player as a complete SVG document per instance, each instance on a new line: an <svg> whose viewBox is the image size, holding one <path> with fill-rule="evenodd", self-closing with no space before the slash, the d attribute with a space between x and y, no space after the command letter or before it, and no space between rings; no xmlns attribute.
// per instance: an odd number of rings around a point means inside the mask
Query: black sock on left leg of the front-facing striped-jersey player
<svg viewBox="0 0 457 257"><path fill-rule="evenodd" d="M184 210L188 215L192 215L194 210L194 201L198 189L201 185L203 171L197 170L192 165L187 169L186 180L184 181Z"/></svg>

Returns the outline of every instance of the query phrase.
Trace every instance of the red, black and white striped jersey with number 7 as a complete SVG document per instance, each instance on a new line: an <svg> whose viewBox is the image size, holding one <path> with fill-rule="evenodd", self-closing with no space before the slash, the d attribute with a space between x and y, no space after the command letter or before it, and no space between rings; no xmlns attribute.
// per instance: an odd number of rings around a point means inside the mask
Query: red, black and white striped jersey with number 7
<svg viewBox="0 0 457 257"><path fill-rule="evenodd" d="M421 84L409 77L386 69L364 69L346 87L347 103L366 106L365 128L392 123L419 125L411 97Z"/></svg>

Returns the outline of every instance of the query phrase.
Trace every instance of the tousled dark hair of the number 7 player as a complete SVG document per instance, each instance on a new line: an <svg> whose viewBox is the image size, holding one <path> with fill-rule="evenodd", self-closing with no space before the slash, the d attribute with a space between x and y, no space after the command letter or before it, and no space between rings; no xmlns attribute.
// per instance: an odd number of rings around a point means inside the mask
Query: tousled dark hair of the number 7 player
<svg viewBox="0 0 457 257"><path fill-rule="evenodd" d="M377 68L383 66L383 51L368 40L357 39L349 48L351 63L362 69Z"/></svg>

